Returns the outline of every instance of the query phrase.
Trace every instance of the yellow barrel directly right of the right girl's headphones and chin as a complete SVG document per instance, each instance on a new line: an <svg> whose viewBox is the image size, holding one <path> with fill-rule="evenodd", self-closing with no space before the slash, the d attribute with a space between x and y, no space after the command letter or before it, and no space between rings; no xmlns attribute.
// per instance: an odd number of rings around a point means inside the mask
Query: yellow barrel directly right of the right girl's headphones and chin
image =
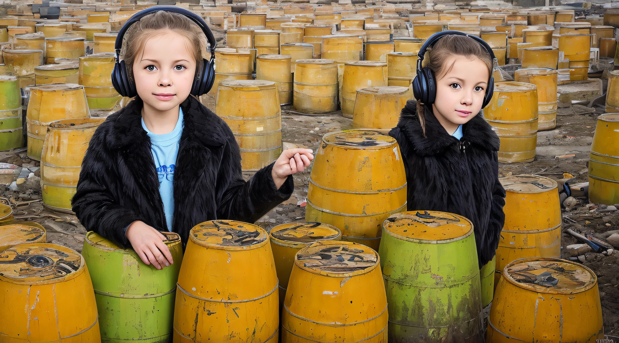
<svg viewBox="0 0 619 343"><path fill-rule="evenodd" d="M531 83L504 81L483 111L484 119L501 140L499 161L530 162L537 146L537 87Z"/></svg>

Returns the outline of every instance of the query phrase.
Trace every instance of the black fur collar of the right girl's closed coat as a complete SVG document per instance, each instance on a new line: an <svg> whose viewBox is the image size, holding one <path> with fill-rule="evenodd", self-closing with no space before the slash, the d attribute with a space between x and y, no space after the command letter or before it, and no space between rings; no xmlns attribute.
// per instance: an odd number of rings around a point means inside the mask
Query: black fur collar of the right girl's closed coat
<svg viewBox="0 0 619 343"><path fill-rule="evenodd" d="M425 107L426 137L417 116L417 103L409 100L406 103L400 121L397 124L407 137L413 148L420 155L430 156L443 152L449 146L459 143L457 138L452 137L436 119L430 106ZM498 151L500 141L488 122L483 119L483 110L469 122L462 125L462 139L460 142L468 142L483 150Z"/></svg>

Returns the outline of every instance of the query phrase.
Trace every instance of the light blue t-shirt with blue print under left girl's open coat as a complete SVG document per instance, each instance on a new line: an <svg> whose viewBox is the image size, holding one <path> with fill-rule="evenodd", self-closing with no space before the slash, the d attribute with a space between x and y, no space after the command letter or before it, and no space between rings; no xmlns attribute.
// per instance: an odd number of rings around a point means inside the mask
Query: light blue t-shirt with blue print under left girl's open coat
<svg viewBox="0 0 619 343"><path fill-rule="evenodd" d="M142 119L142 129L150 137L150 152L155 160L157 176L159 177L159 194L163 201L163 211L165 221L168 224L168 231L172 231L172 221L174 219L174 170L176 169L176 156L178 155L178 143L183 133L183 110L178 109L178 122L174 130L157 135L150 132Z"/></svg>

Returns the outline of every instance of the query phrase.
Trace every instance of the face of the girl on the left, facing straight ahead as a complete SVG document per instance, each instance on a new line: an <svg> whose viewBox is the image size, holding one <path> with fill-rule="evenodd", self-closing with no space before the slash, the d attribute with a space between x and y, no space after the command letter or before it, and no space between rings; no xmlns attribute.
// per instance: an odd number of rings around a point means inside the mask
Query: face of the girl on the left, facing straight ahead
<svg viewBox="0 0 619 343"><path fill-rule="evenodd" d="M132 70L145 108L169 111L189 96L196 74L196 57L189 46L183 35L157 30L137 52Z"/></svg>

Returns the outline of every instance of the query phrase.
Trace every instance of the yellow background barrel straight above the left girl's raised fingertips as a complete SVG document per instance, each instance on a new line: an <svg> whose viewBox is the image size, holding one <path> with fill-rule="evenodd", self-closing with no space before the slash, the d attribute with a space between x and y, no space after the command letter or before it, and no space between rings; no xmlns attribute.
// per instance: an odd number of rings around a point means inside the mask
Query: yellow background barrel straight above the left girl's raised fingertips
<svg viewBox="0 0 619 343"><path fill-rule="evenodd" d="M297 60L293 107L307 114L337 111L337 64L330 59Z"/></svg>

